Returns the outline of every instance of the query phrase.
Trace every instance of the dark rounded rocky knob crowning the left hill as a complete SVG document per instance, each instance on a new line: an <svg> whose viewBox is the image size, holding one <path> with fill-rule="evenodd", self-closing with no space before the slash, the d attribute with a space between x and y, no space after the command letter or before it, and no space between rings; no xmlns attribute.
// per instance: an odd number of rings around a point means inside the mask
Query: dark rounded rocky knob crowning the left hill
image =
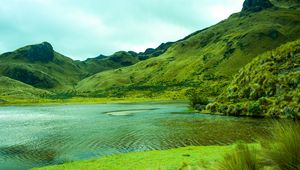
<svg viewBox="0 0 300 170"><path fill-rule="evenodd" d="M17 58L26 58L31 62L49 62L54 58L54 50L50 43L29 45L18 50Z"/></svg>

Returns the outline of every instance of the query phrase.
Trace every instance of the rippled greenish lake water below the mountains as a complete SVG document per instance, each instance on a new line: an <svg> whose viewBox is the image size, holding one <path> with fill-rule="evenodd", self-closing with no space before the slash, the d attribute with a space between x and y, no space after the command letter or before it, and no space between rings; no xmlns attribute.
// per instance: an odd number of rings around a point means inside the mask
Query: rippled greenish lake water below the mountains
<svg viewBox="0 0 300 170"><path fill-rule="evenodd" d="M188 113L183 103L0 107L0 169L250 142L267 129L266 120Z"/></svg>

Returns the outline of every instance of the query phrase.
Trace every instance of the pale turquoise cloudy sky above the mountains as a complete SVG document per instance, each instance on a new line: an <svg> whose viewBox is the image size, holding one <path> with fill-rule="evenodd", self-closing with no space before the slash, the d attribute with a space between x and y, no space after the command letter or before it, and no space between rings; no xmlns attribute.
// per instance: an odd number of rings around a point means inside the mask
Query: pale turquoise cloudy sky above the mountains
<svg viewBox="0 0 300 170"><path fill-rule="evenodd" d="M47 41L76 60L142 52L239 12L244 0L1 0L0 53Z"/></svg>

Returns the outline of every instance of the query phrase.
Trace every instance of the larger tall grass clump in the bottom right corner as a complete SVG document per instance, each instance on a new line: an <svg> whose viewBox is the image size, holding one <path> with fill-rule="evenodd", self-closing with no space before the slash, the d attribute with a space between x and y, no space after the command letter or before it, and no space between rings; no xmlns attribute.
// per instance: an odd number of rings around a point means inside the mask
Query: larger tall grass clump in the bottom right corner
<svg viewBox="0 0 300 170"><path fill-rule="evenodd" d="M284 170L300 169L300 124L277 123L266 155L276 166Z"/></svg>

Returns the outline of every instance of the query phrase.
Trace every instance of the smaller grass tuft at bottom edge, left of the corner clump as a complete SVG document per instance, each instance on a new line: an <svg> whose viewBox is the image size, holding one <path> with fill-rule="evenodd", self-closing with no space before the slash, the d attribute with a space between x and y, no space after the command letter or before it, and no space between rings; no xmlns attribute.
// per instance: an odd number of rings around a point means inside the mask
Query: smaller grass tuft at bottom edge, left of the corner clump
<svg viewBox="0 0 300 170"><path fill-rule="evenodd" d="M233 153L227 154L216 169L221 170L256 170L259 169L256 151L245 144L238 144Z"/></svg>

